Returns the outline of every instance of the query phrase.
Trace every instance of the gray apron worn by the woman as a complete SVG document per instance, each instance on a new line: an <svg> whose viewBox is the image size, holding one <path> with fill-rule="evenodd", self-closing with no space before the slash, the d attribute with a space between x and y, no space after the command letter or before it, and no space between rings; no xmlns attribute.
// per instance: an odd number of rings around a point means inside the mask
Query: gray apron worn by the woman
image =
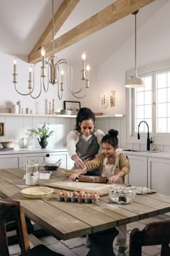
<svg viewBox="0 0 170 256"><path fill-rule="evenodd" d="M99 143L97 142L97 137L94 135L94 133L91 134L91 137L89 140L84 140L81 137L81 133L79 135L79 141L76 144L76 153L79 155L79 158L81 158L82 161L86 160L86 158L89 158L90 156L97 155L99 151ZM76 169L76 166L73 166L73 169ZM99 169L93 169L90 170L86 175L91 176L100 176Z"/></svg>

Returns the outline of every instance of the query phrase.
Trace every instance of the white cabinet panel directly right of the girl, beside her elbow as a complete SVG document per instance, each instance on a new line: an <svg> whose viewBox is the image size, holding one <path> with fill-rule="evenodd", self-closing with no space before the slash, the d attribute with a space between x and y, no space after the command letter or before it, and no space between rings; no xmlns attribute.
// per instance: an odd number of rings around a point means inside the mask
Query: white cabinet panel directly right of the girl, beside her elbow
<svg viewBox="0 0 170 256"><path fill-rule="evenodd" d="M130 173L125 176L125 183L132 186L148 187L147 157L125 154L130 163Z"/></svg>

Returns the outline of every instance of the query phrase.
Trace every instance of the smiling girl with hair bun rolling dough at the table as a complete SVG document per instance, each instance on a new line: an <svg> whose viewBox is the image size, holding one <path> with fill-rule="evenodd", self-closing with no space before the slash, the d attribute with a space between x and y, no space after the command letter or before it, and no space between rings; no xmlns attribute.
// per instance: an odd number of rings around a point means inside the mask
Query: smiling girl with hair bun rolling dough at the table
<svg viewBox="0 0 170 256"><path fill-rule="evenodd" d="M110 129L108 134L102 138L102 151L97 158L85 163L83 169L79 169L76 174L72 174L69 179L75 181L81 174L86 174L91 168L99 168L101 176L107 176L109 183L123 183L124 177L130 171L130 164L128 163L124 153L117 153L118 148L118 132ZM126 246L126 226L119 226L116 228L119 234L115 237L113 249L115 255L125 255Z"/></svg>

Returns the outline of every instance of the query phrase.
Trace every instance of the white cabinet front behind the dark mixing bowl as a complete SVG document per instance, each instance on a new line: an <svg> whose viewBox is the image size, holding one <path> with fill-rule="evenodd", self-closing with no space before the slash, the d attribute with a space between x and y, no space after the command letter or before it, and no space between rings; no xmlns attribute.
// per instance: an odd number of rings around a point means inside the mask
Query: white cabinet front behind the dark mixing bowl
<svg viewBox="0 0 170 256"><path fill-rule="evenodd" d="M61 159L61 168L68 168L68 153L63 152L42 152L42 153L27 153L23 154L23 163L28 160L37 160L40 164L44 161L58 161Z"/></svg>

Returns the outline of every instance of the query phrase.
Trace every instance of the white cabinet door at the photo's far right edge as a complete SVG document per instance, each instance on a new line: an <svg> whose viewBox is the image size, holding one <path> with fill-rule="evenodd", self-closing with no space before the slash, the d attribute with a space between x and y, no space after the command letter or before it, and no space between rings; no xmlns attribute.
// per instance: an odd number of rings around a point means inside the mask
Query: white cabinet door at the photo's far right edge
<svg viewBox="0 0 170 256"><path fill-rule="evenodd" d="M148 158L148 187L156 192L170 195L170 160Z"/></svg>

